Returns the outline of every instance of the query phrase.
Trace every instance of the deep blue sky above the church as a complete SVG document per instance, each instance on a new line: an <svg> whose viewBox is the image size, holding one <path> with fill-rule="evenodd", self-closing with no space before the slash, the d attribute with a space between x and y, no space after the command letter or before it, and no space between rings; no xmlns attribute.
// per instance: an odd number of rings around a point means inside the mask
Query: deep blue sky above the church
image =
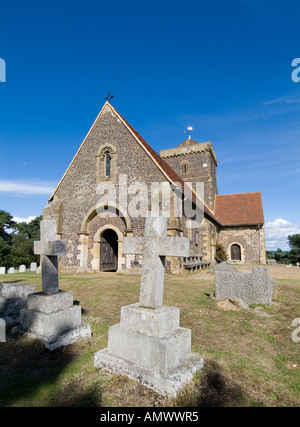
<svg viewBox="0 0 300 427"><path fill-rule="evenodd" d="M156 150L211 141L220 194L261 191L267 247L300 232L298 0L2 2L0 209L42 214L104 103Z"/></svg>

